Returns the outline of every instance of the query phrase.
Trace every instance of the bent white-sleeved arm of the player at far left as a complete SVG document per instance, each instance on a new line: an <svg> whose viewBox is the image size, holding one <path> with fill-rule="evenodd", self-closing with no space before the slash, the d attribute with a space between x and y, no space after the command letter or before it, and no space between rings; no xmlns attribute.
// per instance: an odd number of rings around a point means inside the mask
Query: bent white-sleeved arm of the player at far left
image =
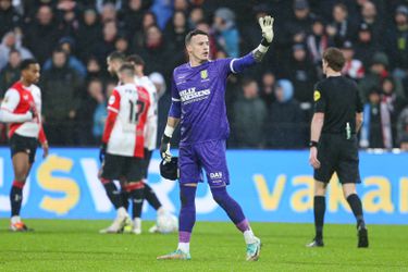
<svg viewBox="0 0 408 272"><path fill-rule="evenodd" d="M33 120L34 111L27 111L26 113L13 113L20 102L18 91L15 89L9 89L5 92L4 99L1 102L0 108L0 122L3 123L24 123Z"/></svg>

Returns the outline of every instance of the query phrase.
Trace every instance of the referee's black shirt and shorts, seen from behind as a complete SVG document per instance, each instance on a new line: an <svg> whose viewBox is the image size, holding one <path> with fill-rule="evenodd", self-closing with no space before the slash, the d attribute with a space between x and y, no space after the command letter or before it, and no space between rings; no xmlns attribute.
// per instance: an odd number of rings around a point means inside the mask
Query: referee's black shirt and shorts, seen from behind
<svg viewBox="0 0 408 272"><path fill-rule="evenodd" d="M361 183L356 113L362 112L357 85L344 76L330 76L316 85L314 112L324 113L318 145L314 180L329 183L334 172L342 184Z"/></svg>

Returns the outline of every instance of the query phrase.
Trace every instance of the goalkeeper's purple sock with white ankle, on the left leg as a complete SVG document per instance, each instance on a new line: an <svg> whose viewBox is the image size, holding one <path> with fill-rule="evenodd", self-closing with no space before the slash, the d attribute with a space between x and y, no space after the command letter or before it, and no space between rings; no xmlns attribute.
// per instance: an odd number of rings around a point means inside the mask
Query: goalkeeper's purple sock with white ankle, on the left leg
<svg viewBox="0 0 408 272"><path fill-rule="evenodd" d="M178 215L178 249L184 252L189 251L189 239L196 222L196 190L197 187L180 186L182 208Z"/></svg>

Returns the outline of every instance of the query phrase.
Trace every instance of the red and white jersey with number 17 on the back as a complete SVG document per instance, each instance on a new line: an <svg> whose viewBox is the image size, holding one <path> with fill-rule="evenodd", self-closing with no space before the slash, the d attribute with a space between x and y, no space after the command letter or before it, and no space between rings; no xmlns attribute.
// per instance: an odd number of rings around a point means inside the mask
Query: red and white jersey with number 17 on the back
<svg viewBox="0 0 408 272"><path fill-rule="evenodd" d="M108 101L108 111L118 115L110 135L103 136L108 139L107 152L144 158L145 126L151 110L145 88L135 84L116 86Z"/></svg>

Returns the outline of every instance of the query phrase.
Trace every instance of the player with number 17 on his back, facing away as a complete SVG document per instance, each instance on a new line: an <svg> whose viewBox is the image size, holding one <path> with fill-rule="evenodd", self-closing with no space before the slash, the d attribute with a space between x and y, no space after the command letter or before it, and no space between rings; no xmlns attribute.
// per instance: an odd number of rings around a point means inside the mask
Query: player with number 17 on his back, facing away
<svg viewBox="0 0 408 272"><path fill-rule="evenodd" d="M122 195L113 181L125 182L122 188L133 200L133 218L141 213L144 200L144 133L152 108L147 90L135 85L135 69L132 64L122 64L118 76L122 85L116 86L109 98L100 150L100 159L103 161L100 180L118 215L101 233L120 233L129 221Z"/></svg>

